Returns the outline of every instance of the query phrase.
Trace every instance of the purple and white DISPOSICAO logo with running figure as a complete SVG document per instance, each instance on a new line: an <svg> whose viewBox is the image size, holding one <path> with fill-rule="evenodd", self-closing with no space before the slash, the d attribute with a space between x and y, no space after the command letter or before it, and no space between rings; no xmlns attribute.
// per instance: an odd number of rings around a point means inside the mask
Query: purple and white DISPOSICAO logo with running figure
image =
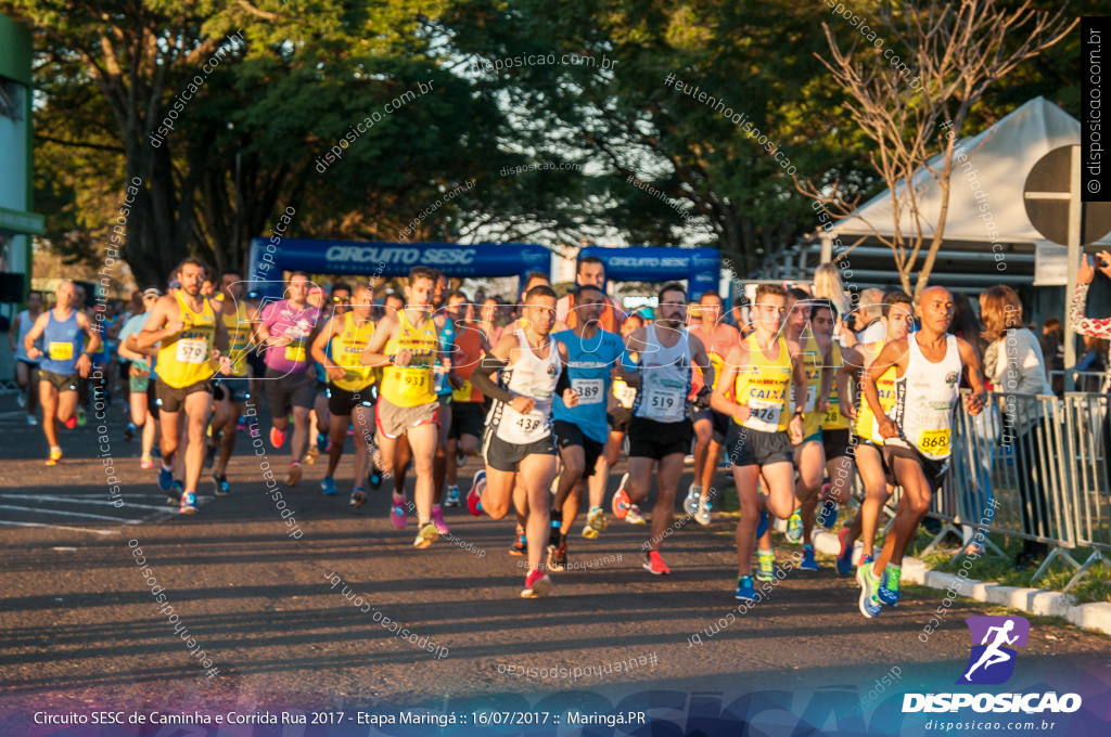
<svg viewBox="0 0 1111 737"><path fill-rule="evenodd" d="M994 686L1014 675L1017 647L1025 647L1030 623L1025 617L967 617L964 623L972 637L972 653L960 686ZM1079 694L1058 696L1044 694L904 694L903 713L957 711L971 707L973 711L1034 714L1040 711L1071 713L1079 709Z"/></svg>

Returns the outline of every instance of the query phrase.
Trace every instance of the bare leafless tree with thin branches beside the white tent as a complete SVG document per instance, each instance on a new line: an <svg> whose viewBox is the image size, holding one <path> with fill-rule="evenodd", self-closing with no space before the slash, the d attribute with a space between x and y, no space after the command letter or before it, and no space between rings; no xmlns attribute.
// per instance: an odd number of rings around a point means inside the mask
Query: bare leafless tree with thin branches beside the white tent
<svg viewBox="0 0 1111 737"><path fill-rule="evenodd" d="M944 240L953 151L970 112L993 82L1075 27L1079 20L1068 22L1063 12L1063 8L1055 13L1038 10L1030 0L1013 10L995 0L884 2L877 30L881 38L898 44L900 58L905 59L898 67L889 63L885 52L874 43L858 50L864 39L855 28L852 43L842 51L833 30L822 23L831 60L815 57L848 95L844 109L872 142L868 161L891 193L892 235L883 236L874 223L869 225L877 240L891 249L908 293L912 293L910 275L927 243L915 174L929 172L941 189L941 208L937 222L929 223L933 234L919 269L915 297L929 283ZM943 124L954 135L948 135ZM930 159L939 142L942 155L934 166ZM859 202L859 198L845 196L838 181L815 184L800 179L797 185L834 218L850 214ZM910 232L905 232L904 214L912 223Z"/></svg>

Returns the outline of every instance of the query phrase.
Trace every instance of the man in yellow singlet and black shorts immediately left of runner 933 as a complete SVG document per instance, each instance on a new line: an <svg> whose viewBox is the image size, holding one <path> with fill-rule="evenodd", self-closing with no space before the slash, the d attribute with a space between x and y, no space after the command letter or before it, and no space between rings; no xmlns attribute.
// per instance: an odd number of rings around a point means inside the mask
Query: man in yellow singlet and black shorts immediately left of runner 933
<svg viewBox="0 0 1111 737"><path fill-rule="evenodd" d="M324 496L337 494L332 478L343 456L348 426L354 424L354 487L350 504L360 507L367 501L362 484L370 466L370 440L374 434L374 373L359 362L367 349L374 323L371 309L374 293L360 282L354 287L350 310L332 315L312 342L312 359L328 372L328 471L320 488ZM346 306L346 305L344 305ZM331 357L324 352L331 345Z"/></svg>

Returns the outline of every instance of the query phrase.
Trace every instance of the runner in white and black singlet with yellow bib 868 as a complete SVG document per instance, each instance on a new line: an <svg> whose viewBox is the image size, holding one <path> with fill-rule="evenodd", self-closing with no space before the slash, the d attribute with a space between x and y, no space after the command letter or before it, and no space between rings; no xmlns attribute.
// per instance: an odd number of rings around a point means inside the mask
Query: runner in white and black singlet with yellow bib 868
<svg viewBox="0 0 1111 737"><path fill-rule="evenodd" d="M882 604L899 603L903 553L949 472L952 411L960 398L962 374L972 388L963 400L970 415L980 413L987 396L975 349L947 332L953 321L949 290L927 289L915 312L921 330L884 344L861 382L864 398L879 418L883 457L903 487L883 549L874 564L861 566L860 613L869 618L879 616ZM891 367L895 368L895 403L884 412L877 381Z"/></svg>

